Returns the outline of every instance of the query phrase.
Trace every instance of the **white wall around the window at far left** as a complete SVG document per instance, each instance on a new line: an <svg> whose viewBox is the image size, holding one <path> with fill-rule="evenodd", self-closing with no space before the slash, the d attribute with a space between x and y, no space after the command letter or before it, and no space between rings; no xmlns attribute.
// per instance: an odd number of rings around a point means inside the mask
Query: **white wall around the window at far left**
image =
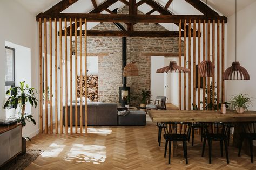
<svg viewBox="0 0 256 170"><path fill-rule="evenodd" d="M37 36L37 22L35 15L28 12L21 5L15 1L0 1L0 60L4 61L5 58L5 41L12 42L31 49L31 65L32 70L31 86L38 89L38 36ZM3 104L5 99L5 62L0 62L0 117L5 117ZM38 108L32 108L31 112L35 117L37 125L28 123L23 128L23 136L32 137L38 133L39 129L39 115Z"/></svg>

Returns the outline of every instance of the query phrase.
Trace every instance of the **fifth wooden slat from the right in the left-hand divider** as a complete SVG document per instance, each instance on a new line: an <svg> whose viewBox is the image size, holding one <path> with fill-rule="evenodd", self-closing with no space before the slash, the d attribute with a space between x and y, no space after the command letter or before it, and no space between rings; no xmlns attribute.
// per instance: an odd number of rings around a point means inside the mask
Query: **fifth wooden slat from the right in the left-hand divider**
<svg viewBox="0 0 256 170"><path fill-rule="evenodd" d="M68 133L68 48L67 48L67 25L66 18L64 19L65 23L65 133Z"/></svg>

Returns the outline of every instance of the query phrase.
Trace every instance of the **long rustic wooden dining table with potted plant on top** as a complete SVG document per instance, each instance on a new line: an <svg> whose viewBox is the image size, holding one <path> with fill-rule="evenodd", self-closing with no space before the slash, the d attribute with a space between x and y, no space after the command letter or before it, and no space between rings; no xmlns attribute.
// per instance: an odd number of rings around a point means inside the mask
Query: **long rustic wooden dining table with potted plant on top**
<svg viewBox="0 0 256 170"><path fill-rule="evenodd" d="M238 148L240 143L241 125L245 122L256 121L256 111L245 111L243 114L237 114L235 111L226 111L221 114L220 111L210 110L149 110L148 114L154 123L160 122L233 122L233 146ZM250 154L247 142L244 142L245 152ZM173 155L176 155L176 146L173 146Z"/></svg>

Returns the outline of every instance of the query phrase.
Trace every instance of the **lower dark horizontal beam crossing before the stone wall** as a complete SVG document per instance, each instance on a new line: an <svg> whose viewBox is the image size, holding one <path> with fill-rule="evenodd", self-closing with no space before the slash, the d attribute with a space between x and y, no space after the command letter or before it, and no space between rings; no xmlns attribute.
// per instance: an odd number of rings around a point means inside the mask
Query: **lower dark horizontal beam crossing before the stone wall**
<svg viewBox="0 0 256 170"><path fill-rule="evenodd" d="M62 31L64 36L64 30ZM67 32L67 36L70 32ZM84 30L82 31L84 36ZM188 32L186 33L188 37ZM72 36L75 36L75 32L72 32ZM79 30L77 30L77 36L80 36ZM105 31L105 30L87 30L87 36L93 37L179 37L179 31ZM181 36L184 37L184 32L181 32ZM192 33L193 36L193 33ZM196 32L198 37L198 32Z"/></svg>

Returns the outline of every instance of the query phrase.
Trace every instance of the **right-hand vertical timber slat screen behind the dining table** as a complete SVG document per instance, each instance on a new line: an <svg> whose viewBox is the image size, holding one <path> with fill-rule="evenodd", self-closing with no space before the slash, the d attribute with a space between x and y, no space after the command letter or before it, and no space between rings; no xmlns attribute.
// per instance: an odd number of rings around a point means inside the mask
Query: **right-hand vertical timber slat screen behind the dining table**
<svg viewBox="0 0 256 170"><path fill-rule="evenodd" d="M184 26L181 26L182 24ZM188 30L186 29L187 25ZM193 29L193 32L191 32L191 29ZM184 31L183 36L181 36L181 31ZM196 36L196 31L198 32L198 37ZM187 33L188 37L186 36ZM192 103L197 105L200 110L218 110L218 104L225 102L225 86L222 78L225 66L224 38L225 23L220 23L220 20L199 20L198 23L196 20L180 20L179 65L181 66L181 61L183 60L184 67L191 70L191 73L188 73L188 79L186 73L179 73L180 110L193 109ZM187 40L188 43L186 43ZM184 49L184 56L181 55L182 49ZM214 63L215 71L213 77L200 77L197 65L203 60L211 60ZM191 66L191 64L193 65ZM181 75L183 75L182 83Z"/></svg>

